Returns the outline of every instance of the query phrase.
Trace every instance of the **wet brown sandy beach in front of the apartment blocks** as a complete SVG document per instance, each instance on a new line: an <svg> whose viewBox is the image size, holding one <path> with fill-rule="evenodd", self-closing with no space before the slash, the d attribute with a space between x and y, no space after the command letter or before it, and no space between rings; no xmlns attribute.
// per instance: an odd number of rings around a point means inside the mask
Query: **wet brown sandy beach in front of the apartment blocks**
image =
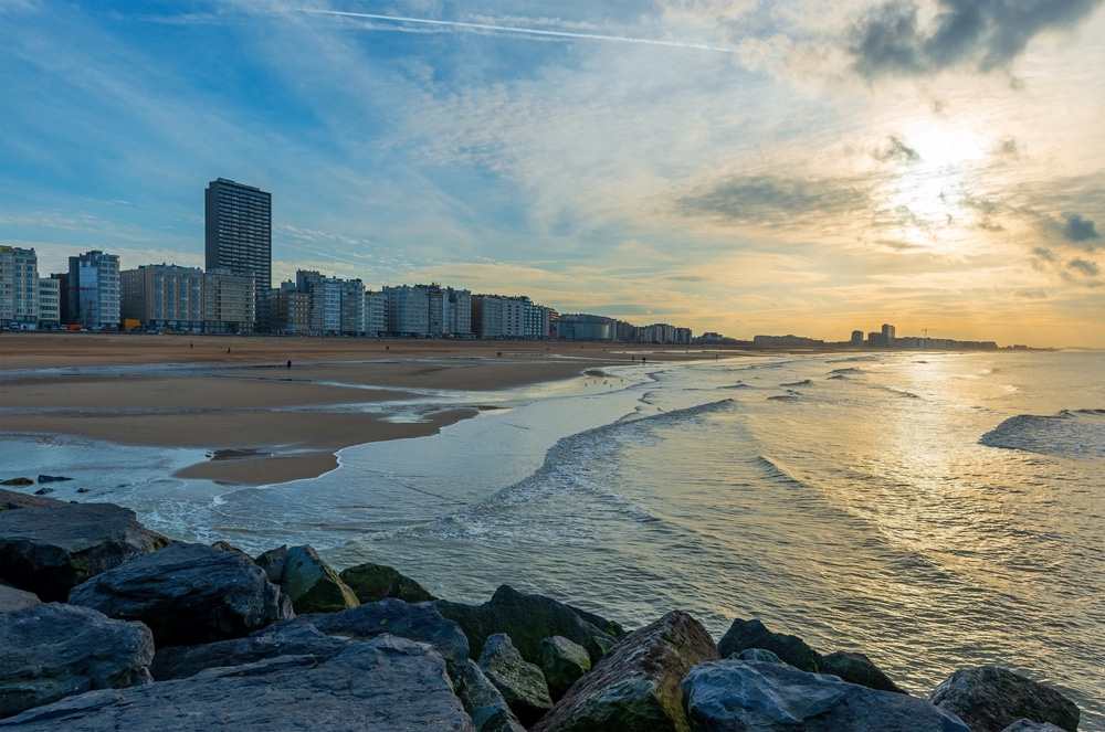
<svg viewBox="0 0 1105 732"><path fill-rule="evenodd" d="M477 413L394 421L373 404L582 379L642 358L711 357L599 343L4 332L0 428L201 448L209 459L180 477L264 485L322 475L344 447L434 434Z"/></svg>

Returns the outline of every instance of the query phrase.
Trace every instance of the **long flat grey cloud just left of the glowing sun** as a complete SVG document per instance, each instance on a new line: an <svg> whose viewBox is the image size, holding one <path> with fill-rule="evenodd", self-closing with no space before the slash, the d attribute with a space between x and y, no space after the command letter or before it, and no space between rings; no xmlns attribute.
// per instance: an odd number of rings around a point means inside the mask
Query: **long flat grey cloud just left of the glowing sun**
<svg viewBox="0 0 1105 732"><path fill-rule="evenodd" d="M842 180L736 176L676 201L685 215L715 214L733 221L771 223L807 213L854 211L867 195Z"/></svg>

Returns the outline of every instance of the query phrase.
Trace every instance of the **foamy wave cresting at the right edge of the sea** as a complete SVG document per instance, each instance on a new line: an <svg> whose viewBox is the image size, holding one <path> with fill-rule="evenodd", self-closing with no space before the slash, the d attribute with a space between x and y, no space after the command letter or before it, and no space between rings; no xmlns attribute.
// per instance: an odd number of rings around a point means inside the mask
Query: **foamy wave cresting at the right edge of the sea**
<svg viewBox="0 0 1105 732"><path fill-rule="evenodd" d="M1105 410L1063 410L1052 416L1021 414L1009 417L978 442L1056 457L1105 459Z"/></svg>

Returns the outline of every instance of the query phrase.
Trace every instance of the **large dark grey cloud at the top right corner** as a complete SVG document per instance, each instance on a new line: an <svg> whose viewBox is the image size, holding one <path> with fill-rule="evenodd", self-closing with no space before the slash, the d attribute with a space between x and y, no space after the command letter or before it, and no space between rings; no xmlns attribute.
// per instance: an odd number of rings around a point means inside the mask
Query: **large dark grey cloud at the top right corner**
<svg viewBox="0 0 1105 732"><path fill-rule="evenodd" d="M1102 0L937 0L930 25L917 4L888 0L859 20L848 39L853 67L866 77L924 76L946 68L981 72L1009 65L1046 30L1070 30Z"/></svg>

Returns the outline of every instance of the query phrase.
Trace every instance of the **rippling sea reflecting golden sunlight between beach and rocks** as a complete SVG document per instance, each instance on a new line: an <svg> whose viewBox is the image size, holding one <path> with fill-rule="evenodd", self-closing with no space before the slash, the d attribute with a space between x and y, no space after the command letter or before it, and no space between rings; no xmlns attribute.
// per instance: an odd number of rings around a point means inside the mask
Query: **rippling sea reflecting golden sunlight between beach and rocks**
<svg viewBox="0 0 1105 732"><path fill-rule="evenodd" d="M915 696L999 665L1105 730L1105 352L625 356L372 405L481 411L309 480L181 480L202 453L56 435L4 435L0 464L173 539L311 544L450 600L509 584L630 628L683 609L715 639L757 617Z"/></svg>

